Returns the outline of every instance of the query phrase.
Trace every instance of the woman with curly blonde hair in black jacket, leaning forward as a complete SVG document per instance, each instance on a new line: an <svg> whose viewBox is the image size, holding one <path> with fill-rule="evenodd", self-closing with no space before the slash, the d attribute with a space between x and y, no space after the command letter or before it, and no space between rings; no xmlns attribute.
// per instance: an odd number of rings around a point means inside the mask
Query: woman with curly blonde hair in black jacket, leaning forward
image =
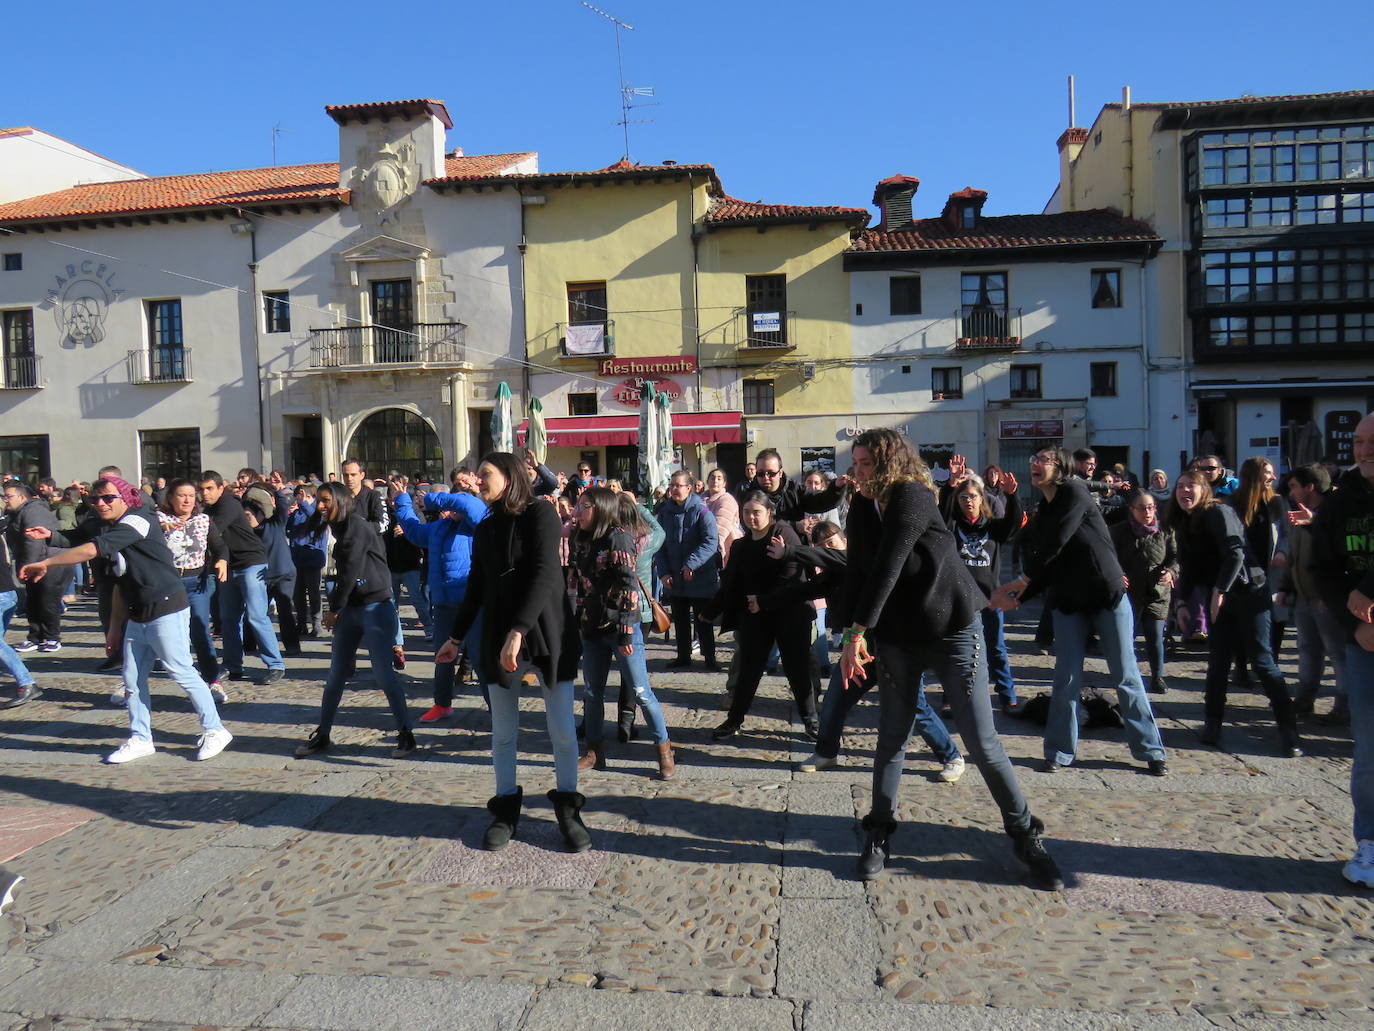
<svg viewBox="0 0 1374 1031"><path fill-rule="evenodd" d="M1002 810L1017 856L1030 869L1037 888L1062 888L1059 867L1041 839L1044 823L1030 814L993 727L978 616L987 598L940 516L930 470L904 436L874 429L855 440L853 480L860 494L849 507L849 627L841 676L845 683L861 680L871 664L879 707L872 808L863 819L859 877L872 880L888 861L921 676L929 669L944 686L969 756Z"/></svg>

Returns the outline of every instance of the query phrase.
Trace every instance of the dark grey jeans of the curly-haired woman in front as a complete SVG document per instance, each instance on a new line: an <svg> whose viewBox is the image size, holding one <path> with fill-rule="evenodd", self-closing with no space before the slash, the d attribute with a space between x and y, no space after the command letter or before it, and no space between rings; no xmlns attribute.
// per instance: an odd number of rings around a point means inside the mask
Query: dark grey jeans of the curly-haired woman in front
<svg viewBox="0 0 1374 1031"><path fill-rule="evenodd" d="M870 676L878 678L878 748L872 760L872 812L892 818L897 806L897 788L907 759L907 742L915 726L922 674L929 669L944 687L945 701L969 749L969 757L982 774L993 801L1002 811L1002 825L1009 833L1030 829L1026 806L1015 770L1002 748L1002 738L992 722L988 698L988 664L982 657L982 632L978 617L947 638L929 643L893 643L875 639L877 661Z"/></svg>

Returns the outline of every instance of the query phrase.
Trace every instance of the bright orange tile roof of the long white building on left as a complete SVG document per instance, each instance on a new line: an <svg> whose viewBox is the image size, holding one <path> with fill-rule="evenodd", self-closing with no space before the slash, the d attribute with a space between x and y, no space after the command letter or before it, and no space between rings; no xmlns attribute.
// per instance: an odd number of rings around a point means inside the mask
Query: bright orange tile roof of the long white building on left
<svg viewBox="0 0 1374 1031"><path fill-rule="evenodd" d="M448 175L493 175L528 157L529 154L448 157L444 165ZM338 179L339 166L326 162L85 183L0 205L0 223L238 208L291 201L345 202L348 191L339 188Z"/></svg>

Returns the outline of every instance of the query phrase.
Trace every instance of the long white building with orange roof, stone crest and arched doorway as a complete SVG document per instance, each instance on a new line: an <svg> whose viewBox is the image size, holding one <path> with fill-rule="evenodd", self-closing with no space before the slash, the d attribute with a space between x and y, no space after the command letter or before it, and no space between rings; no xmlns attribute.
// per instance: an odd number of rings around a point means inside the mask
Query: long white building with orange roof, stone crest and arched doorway
<svg viewBox="0 0 1374 1031"><path fill-rule="evenodd" d="M324 474L359 455L438 477L471 459L523 341L519 208L429 183L536 157L445 153L436 100L327 111L338 164L0 205L18 256L0 272L0 470Z"/></svg>

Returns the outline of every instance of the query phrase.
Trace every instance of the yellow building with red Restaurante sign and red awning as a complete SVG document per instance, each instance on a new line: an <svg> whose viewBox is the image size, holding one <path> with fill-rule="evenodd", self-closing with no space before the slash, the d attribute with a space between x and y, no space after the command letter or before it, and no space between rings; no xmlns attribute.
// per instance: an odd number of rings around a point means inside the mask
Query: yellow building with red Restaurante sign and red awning
<svg viewBox="0 0 1374 1031"><path fill-rule="evenodd" d="M833 467L852 396L842 254L866 210L738 201L710 165L449 186L521 195L528 364L510 384L544 406L552 469L633 480L643 382L672 399L686 469L734 480L764 447L789 472Z"/></svg>

